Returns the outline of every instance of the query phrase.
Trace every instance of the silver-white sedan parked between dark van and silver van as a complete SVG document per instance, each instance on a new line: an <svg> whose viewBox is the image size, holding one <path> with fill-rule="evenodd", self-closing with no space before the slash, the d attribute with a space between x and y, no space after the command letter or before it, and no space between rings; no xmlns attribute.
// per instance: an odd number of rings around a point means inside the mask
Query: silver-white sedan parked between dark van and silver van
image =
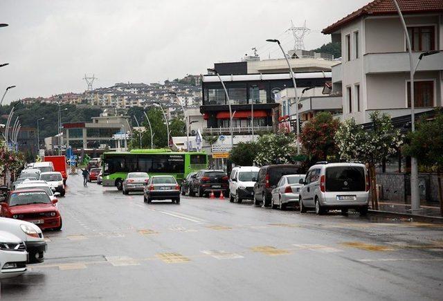
<svg viewBox="0 0 443 301"><path fill-rule="evenodd" d="M277 187L271 192L271 207L284 210L287 206L298 206L298 193L305 181L306 174L287 174L282 176Z"/></svg>

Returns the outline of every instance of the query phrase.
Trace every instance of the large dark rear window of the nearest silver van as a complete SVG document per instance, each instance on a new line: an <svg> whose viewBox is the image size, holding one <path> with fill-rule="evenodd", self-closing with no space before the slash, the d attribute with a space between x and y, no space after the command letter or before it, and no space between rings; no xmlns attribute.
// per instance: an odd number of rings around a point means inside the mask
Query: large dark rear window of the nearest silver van
<svg viewBox="0 0 443 301"><path fill-rule="evenodd" d="M326 191L365 191L365 171L359 166L326 168Z"/></svg>

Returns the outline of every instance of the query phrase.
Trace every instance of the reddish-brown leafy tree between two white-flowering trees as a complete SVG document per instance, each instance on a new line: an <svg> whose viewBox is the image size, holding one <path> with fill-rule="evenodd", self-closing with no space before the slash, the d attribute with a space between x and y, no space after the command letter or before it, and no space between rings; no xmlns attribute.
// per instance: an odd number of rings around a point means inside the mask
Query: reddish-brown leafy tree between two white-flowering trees
<svg viewBox="0 0 443 301"><path fill-rule="evenodd" d="M334 160L338 155L335 134L340 122L327 112L305 123L300 140L311 162Z"/></svg>

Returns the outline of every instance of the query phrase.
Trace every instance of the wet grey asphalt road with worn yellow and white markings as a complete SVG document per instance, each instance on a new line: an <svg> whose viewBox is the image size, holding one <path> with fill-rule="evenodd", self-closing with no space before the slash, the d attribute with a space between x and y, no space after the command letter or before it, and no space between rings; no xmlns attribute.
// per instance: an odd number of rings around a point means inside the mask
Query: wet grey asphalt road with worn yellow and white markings
<svg viewBox="0 0 443 301"><path fill-rule="evenodd" d="M63 230L4 300L443 299L443 225L68 185Z"/></svg>

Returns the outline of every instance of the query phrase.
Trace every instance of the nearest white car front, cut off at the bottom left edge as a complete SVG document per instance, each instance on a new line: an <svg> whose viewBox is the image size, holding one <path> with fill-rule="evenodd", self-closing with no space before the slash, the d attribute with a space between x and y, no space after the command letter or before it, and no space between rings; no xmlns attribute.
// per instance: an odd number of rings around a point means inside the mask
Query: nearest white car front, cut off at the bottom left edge
<svg viewBox="0 0 443 301"><path fill-rule="evenodd" d="M27 261L24 242L12 233L0 230L0 279L25 273Z"/></svg>

